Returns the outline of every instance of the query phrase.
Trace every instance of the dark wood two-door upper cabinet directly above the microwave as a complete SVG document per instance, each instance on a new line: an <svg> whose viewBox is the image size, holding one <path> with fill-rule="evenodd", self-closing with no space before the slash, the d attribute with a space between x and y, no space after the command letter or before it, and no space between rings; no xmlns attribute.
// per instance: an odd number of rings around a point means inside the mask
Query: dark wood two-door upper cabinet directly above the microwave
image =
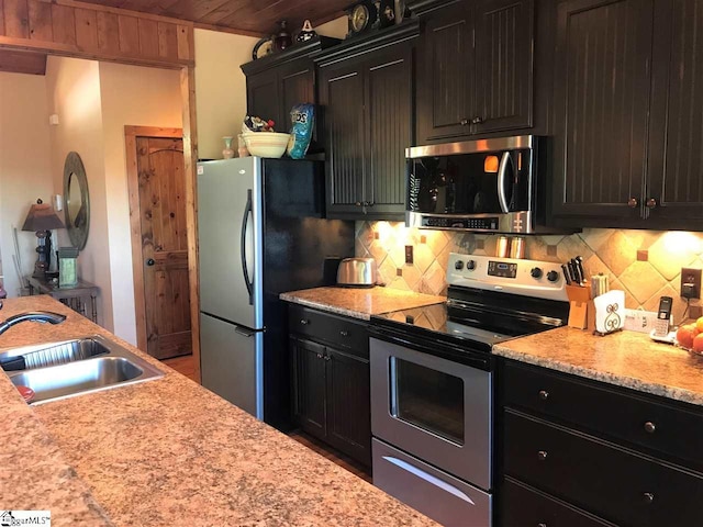
<svg viewBox="0 0 703 527"><path fill-rule="evenodd" d="M417 12L419 143L532 126L533 0L425 1Z"/></svg>

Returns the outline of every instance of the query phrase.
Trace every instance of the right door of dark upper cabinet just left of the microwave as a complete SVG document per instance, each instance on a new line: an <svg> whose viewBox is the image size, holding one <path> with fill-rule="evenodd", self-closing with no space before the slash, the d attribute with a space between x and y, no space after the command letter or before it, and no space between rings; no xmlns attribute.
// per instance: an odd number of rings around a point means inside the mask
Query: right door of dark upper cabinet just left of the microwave
<svg viewBox="0 0 703 527"><path fill-rule="evenodd" d="M366 68L368 162L366 199L369 214L386 220L405 212L405 148L412 145L413 67L410 46L375 54Z"/></svg>

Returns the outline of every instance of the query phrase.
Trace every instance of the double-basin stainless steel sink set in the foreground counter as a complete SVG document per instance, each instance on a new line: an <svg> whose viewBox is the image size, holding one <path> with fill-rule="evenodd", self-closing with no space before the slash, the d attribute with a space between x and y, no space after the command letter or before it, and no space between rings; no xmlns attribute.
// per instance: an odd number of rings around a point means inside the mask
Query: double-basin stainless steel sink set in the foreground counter
<svg viewBox="0 0 703 527"><path fill-rule="evenodd" d="M0 360L12 357L23 357L26 368L7 373L15 386L34 391L32 404L164 375L144 359L99 335L0 354Z"/></svg>

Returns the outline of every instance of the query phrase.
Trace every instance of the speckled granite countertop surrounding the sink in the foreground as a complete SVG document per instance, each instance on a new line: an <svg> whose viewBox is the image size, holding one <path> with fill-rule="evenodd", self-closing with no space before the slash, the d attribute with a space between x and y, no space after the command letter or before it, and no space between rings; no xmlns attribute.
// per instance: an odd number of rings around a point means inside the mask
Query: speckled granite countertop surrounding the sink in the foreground
<svg viewBox="0 0 703 527"><path fill-rule="evenodd" d="M13 327L3 347L101 334L166 374L32 407L0 375L3 467L18 467L3 507L55 525L436 525L48 296L3 314L40 309L69 316Z"/></svg>

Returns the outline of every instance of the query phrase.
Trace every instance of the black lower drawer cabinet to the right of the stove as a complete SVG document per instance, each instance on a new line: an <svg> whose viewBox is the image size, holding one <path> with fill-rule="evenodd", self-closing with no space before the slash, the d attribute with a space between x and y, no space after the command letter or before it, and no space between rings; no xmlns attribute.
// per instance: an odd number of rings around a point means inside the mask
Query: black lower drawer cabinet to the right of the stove
<svg viewBox="0 0 703 527"><path fill-rule="evenodd" d="M500 373L501 525L702 525L703 411L510 360Z"/></svg>

